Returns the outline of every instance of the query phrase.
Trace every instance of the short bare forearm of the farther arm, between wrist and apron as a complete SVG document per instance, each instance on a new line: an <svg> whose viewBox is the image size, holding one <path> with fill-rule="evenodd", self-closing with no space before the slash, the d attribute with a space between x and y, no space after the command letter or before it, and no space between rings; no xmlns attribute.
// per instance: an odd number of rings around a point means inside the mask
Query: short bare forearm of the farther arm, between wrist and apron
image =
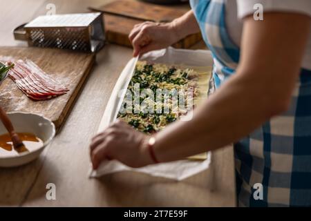
<svg viewBox="0 0 311 221"><path fill-rule="evenodd" d="M192 10L189 10L185 15L182 15L182 17L174 19L171 22L171 26L173 26L176 36L178 36L179 39L200 32L198 22Z"/></svg>

